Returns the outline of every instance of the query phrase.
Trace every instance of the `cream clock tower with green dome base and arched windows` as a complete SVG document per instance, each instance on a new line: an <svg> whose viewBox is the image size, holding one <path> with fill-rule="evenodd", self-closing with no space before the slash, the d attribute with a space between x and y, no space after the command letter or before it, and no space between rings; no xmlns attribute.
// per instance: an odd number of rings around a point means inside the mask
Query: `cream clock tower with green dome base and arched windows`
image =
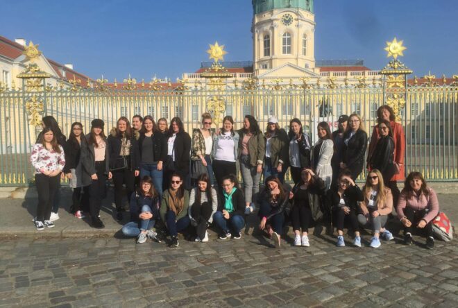
<svg viewBox="0 0 458 308"><path fill-rule="evenodd" d="M313 0L252 0L253 68L257 74L287 63L313 71Z"/></svg>

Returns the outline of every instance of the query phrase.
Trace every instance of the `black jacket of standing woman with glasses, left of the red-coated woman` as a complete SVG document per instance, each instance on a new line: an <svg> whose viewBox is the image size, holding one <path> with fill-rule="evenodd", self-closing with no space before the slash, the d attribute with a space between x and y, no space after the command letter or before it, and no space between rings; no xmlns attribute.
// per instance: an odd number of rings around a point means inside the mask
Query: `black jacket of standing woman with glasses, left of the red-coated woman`
<svg viewBox="0 0 458 308"><path fill-rule="evenodd" d="M351 130L348 130L343 135L343 140L350 136ZM364 130L357 130L355 135L348 140L348 145L344 143L342 160L347 165L352 173L352 178L355 180L361 173L364 165L364 157L367 148L367 134Z"/></svg>

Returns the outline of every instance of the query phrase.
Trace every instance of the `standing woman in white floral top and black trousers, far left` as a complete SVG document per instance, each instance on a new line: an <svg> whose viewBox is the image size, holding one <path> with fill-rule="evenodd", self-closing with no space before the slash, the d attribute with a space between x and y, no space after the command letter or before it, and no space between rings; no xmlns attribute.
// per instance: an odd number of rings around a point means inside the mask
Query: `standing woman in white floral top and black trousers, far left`
<svg viewBox="0 0 458 308"><path fill-rule="evenodd" d="M33 146L31 163L35 169L35 186L38 192L35 227L37 230L43 230L44 226L53 228L54 223L49 217L60 182L60 172L65 166L65 154L51 128L42 130L39 142Z"/></svg>

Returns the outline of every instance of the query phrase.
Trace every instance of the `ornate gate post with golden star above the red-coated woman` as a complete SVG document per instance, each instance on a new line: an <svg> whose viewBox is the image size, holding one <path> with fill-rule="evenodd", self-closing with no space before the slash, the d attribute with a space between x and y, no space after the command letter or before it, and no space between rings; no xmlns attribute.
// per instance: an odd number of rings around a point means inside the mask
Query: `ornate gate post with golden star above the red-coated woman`
<svg viewBox="0 0 458 308"><path fill-rule="evenodd" d="M405 49L402 41L398 42L396 37L392 42L387 42L384 50L388 52L387 57L393 59L380 71L383 75L384 103L393 108L397 121L400 121L400 110L405 107L407 98L407 75L412 74L412 70L398 60L398 56L404 55L402 51Z"/></svg>

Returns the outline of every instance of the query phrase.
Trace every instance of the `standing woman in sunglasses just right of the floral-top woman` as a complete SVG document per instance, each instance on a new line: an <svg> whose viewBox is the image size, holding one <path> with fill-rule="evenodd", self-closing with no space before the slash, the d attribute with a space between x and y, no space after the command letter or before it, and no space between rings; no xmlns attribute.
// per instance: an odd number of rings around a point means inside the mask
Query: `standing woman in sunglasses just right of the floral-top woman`
<svg viewBox="0 0 458 308"><path fill-rule="evenodd" d="M85 216L81 212L81 189L83 189L83 166L80 163L81 143L86 142L83 133L83 124L75 122L71 124L69 139L65 142L65 167L63 172L69 179L69 187L73 188L71 200L73 201L70 212L77 219Z"/></svg>

